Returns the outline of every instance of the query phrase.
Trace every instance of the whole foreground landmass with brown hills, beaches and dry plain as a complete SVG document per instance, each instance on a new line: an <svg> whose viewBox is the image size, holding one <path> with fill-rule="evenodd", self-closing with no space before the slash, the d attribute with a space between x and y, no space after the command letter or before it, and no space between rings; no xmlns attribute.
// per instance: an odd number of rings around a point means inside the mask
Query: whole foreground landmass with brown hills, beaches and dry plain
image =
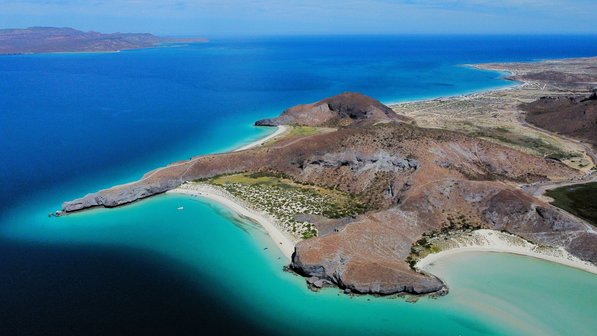
<svg viewBox="0 0 597 336"><path fill-rule="evenodd" d="M284 126L268 140L168 164L67 201L57 215L171 190L223 197L294 245L290 267L310 284L346 293L445 294L426 265L450 249L540 255L593 271L595 228L527 190L592 179L592 143L581 140L592 139L595 123L565 129L579 138L556 133L564 130L551 114L561 104L551 100L590 105L596 61L476 65L522 83L445 99L386 106L345 92L294 106L256 122ZM554 68L564 75L545 74ZM574 106L565 113L580 118ZM543 114L552 130L536 121Z"/></svg>

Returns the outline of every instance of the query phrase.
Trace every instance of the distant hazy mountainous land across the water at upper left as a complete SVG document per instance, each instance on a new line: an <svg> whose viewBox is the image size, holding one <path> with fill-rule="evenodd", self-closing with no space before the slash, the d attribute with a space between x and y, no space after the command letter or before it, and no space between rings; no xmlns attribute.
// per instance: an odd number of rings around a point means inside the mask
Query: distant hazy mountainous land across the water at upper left
<svg viewBox="0 0 597 336"><path fill-rule="evenodd" d="M162 38L150 33L82 32L72 28L0 29L0 55L92 53L156 47L155 43L207 41L204 38Z"/></svg>

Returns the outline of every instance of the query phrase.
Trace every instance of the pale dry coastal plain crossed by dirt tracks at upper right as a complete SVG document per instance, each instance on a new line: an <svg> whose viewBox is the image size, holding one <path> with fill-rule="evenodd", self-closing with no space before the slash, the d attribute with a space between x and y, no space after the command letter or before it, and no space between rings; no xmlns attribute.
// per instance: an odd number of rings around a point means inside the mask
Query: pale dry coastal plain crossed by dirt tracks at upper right
<svg viewBox="0 0 597 336"><path fill-rule="evenodd" d="M417 126L457 130L475 138L518 149L537 157L553 157L584 173L595 166L579 143L533 129L522 123L515 106L540 97L589 95L597 88L597 57L545 60L533 63L487 63L479 69L507 71L510 80L524 81L513 87L463 94L457 97L390 105L399 115L413 118ZM580 82L579 82L580 81ZM524 109L521 109L523 116ZM569 120L562 117L559 124Z"/></svg>

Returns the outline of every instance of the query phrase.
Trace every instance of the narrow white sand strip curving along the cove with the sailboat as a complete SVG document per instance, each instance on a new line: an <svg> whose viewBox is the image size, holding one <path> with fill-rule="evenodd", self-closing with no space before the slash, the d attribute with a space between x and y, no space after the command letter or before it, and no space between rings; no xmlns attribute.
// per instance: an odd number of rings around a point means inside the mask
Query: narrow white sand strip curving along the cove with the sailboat
<svg viewBox="0 0 597 336"><path fill-rule="evenodd" d="M292 255L294 253L294 244L292 242L290 242L290 240L288 240L288 238L286 236L284 236L284 234L282 234L278 230L278 228L276 228L272 223L267 221L267 219L264 218L263 216L256 215L255 213L250 212L249 210L242 207L240 204L235 203L226 197L214 195L211 193L204 192L204 193L200 194L199 191L187 190L187 189L173 189L173 190L166 191L166 193L167 194L168 193L183 194L183 195L190 194L190 195L197 195L200 197L209 198L210 200L214 200L214 201L217 201L217 202L223 204L224 206L226 206L230 210L233 210L234 212L238 213L239 215L254 219L257 223L259 223L259 225L261 225L261 227L263 227L267 231L267 234L269 234L269 236L272 237L272 240L276 243L276 246L278 246L280 251L282 251L282 253L284 253L284 256L286 256L289 261L292 260Z"/></svg>

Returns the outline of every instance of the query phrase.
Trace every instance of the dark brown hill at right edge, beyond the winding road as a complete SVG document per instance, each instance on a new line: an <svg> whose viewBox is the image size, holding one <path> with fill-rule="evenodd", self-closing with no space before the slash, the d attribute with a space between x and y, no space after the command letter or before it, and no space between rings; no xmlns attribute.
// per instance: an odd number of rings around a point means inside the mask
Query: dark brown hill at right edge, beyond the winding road
<svg viewBox="0 0 597 336"><path fill-rule="evenodd" d="M541 97L518 108L529 123L597 145L597 94Z"/></svg>

